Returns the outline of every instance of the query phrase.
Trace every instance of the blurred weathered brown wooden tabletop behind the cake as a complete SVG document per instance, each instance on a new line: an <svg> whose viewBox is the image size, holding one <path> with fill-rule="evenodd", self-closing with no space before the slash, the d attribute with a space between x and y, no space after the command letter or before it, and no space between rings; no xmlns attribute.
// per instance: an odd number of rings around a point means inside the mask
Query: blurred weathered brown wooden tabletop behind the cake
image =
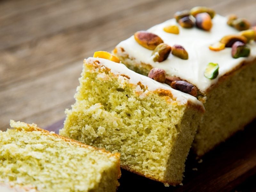
<svg viewBox="0 0 256 192"><path fill-rule="evenodd" d="M0 1L0 129L62 119L84 58L196 5L256 20L255 0Z"/></svg>

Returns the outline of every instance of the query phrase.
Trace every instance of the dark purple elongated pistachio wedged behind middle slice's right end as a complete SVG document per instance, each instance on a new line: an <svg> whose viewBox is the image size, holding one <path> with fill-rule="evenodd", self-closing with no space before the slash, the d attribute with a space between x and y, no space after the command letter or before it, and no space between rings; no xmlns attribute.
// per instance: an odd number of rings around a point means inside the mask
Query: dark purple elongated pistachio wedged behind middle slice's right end
<svg viewBox="0 0 256 192"><path fill-rule="evenodd" d="M196 87L186 81L173 81L171 83L171 87L181 92L188 93L194 97L197 95Z"/></svg>

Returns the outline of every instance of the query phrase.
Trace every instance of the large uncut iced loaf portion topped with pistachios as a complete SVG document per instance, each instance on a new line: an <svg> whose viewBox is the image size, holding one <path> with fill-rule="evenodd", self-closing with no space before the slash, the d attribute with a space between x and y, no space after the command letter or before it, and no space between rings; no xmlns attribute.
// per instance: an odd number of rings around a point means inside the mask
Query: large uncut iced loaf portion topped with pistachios
<svg viewBox="0 0 256 192"><path fill-rule="evenodd" d="M255 31L245 19L195 7L136 32L113 54L145 76L161 68L196 86L206 112L193 149L202 156L256 117Z"/></svg>

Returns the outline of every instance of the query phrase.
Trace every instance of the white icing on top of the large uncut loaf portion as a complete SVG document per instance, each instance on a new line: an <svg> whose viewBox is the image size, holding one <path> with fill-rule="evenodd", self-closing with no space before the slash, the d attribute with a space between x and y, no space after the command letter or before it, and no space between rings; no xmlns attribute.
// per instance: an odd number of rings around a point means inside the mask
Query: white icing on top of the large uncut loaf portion
<svg viewBox="0 0 256 192"><path fill-rule="evenodd" d="M116 47L123 47L125 52L131 58L135 58L137 63L143 62L150 64L152 67L162 68L168 75L185 79L196 85L200 91L205 92L212 84L218 81L220 76L232 71L242 61L252 60L256 57L256 43L254 41L247 44L251 49L249 57L234 59L231 56L231 48L225 48L219 52L210 50L209 45L218 42L223 36L239 33L235 28L227 25L227 18L220 15L215 15L212 23L210 32L196 27L190 29L182 28L175 19L167 20L148 29L149 32L160 36L166 44L183 46L188 52L188 60L182 60L170 54L167 60L160 63L154 62L153 57L151 57L152 51L139 45L133 36L122 41ZM163 28L168 25L179 26L180 34L164 32ZM213 80L204 77L204 70L210 62L218 63L220 66L219 75Z"/></svg>

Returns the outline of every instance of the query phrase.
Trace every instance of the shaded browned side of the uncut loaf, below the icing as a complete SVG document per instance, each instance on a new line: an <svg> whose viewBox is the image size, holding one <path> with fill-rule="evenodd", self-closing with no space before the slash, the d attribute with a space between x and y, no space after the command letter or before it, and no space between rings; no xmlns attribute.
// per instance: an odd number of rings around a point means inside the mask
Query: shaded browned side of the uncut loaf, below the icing
<svg viewBox="0 0 256 192"><path fill-rule="evenodd" d="M203 156L256 117L256 60L241 63L207 92L193 149Z"/></svg>

